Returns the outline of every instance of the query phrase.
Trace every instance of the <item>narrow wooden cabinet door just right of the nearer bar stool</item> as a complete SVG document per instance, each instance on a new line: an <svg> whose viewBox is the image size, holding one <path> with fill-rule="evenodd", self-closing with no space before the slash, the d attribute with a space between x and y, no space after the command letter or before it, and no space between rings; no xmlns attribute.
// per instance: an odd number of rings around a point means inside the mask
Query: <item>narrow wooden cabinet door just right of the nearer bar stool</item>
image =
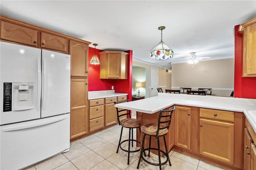
<svg viewBox="0 0 256 170"><path fill-rule="evenodd" d="M191 109L189 107L176 107L175 114L175 141L178 147L190 150Z"/></svg>

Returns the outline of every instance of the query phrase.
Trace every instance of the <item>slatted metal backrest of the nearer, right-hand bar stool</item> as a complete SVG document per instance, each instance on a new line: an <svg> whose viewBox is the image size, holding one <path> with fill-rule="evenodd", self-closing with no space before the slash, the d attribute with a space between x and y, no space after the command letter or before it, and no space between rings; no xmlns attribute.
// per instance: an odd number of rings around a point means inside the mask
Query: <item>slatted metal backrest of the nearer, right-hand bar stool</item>
<svg viewBox="0 0 256 170"><path fill-rule="evenodd" d="M158 128L156 132L156 138L158 137L159 131L162 129L168 129L171 124L172 114L175 110L175 106L171 110L160 110L159 117L158 117Z"/></svg>

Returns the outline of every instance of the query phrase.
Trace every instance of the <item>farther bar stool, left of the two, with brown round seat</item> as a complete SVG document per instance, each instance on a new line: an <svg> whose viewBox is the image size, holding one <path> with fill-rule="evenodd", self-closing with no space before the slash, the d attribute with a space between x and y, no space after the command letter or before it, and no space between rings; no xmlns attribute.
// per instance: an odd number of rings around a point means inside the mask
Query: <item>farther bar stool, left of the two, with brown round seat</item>
<svg viewBox="0 0 256 170"><path fill-rule="evenodd" d="M114 104L120 104L120 103L124 103L124 102L129 102L129 100L114 102ZM117 112L118 124L122 126L120 139L119 139L119 143L118 143L116 153L118 153L119 147L120 147L120 149L124 150L125 152L128 152L128 162L127 162L127 164L129 165L129 163L130 163L130 153L131 152L138 152L140 150L140 149L130 150L130 143L132 143L132 147L133 147L133 142L140 143L140 141L137 141L137 140L133 139L133 129L138 128L140 130L141 123L140 123L140 120L131 118L131 111L128 110L128 109L120 109L120 108L116 107L116 112ZM120 121L119 117L124 116L124 115L128 116L129 118L125 118L125 119L122 119ZM121 142L122 132L123 132L124 127L129 129L129 139L126 139L126 140ZM132 133L131 133L131 131L132 131ZM124 142L128 142L128 150L124 149L121 146L122 143L124 143Z"/></svg>

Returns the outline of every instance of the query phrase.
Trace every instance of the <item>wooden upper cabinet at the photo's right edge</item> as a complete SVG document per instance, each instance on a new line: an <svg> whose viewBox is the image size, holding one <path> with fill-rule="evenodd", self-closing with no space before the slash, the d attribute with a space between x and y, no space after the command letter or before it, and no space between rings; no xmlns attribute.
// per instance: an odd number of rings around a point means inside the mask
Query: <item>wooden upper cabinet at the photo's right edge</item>
<svg viewBox="0 0 256 170"><path fill-rule="evenodd" d="M256 77L256 18L240 25L243 34L243 77Z"/></svg>

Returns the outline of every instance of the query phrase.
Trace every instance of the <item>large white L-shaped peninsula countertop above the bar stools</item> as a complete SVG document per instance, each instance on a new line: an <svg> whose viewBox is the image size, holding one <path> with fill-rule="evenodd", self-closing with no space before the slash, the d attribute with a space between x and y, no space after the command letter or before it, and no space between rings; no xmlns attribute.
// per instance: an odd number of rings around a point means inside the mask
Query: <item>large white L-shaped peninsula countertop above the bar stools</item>
<svg viewBox="0 0 256 170"><path fill-rule="evenodd" d="M155 113L174 104L243 112L256 132L256 99L158 93L158 96L116 104L115 107Z"/></svg>

